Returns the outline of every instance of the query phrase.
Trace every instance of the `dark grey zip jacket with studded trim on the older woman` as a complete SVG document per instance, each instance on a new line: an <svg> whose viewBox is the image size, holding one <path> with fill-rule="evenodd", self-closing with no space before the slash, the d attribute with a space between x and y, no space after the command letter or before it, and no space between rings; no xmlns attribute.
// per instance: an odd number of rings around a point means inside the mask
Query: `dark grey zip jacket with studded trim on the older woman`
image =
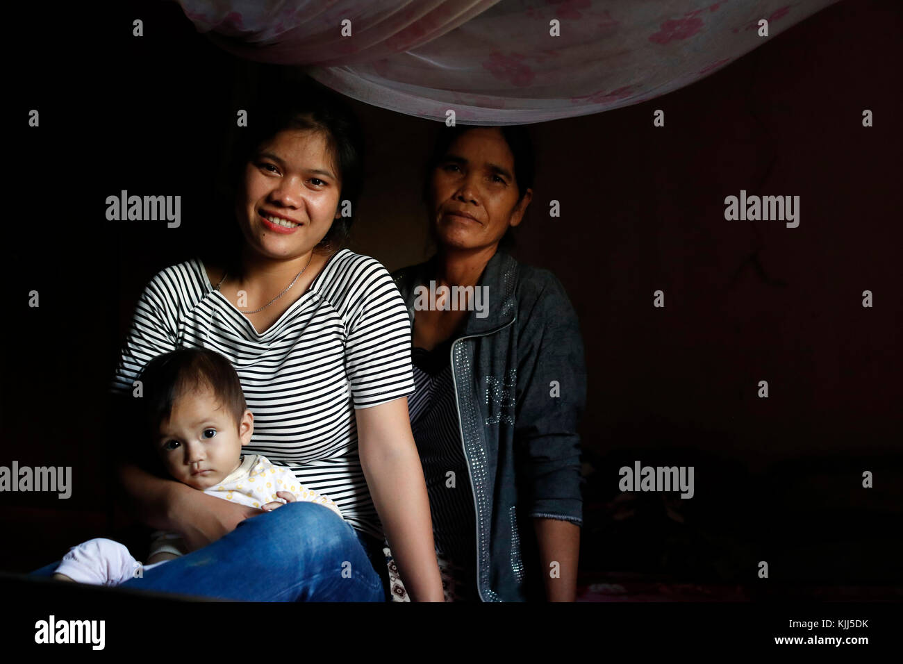
<svg viewBox="0 0 903 664"><path fill-rule="evenodd" d="M415 289L429 287L434 261L393 275L412 324ZM582 526L577 424L586 403L586 368L580 327L548 270L497 252L483 270L482 286L489 288L489 305L470 312L451 351L476 510L479 596L484 602L541 600L532 518Z"/></svg>

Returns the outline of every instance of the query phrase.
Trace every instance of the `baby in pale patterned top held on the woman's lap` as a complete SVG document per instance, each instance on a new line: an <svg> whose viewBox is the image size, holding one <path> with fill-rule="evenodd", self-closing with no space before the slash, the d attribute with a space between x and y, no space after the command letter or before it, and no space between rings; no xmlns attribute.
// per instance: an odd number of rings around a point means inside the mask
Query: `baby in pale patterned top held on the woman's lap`
<svg viewBox="0 0 903 664"><path fill-rule="evenodd" d="M172 478L223 500L270 511L285 502L336 504L298 483L293 473L259 454L241 454L254 433L241 383L218 352L182 349L147 363L140 377L144 431L151 432L151 459ZM281 500L280 500L281 499ZM90 539L72 547L53 577L84 584L119 585L187 553L178 533L154 533L147 564L111 539Z"/></svg>

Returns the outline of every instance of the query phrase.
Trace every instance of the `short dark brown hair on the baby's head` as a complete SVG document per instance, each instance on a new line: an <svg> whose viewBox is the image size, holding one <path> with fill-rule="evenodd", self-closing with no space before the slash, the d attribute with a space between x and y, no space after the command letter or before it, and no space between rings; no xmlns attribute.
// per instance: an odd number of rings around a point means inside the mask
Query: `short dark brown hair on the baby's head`
<svg viewBox="0 0 903 664"><path fill-rule="evenodd" d="M236 428L247 409L245 393L231 363L217 351L183 348L163 353L147 363L139 380L143 396L140 410L144 431L155 438L172 416L172 404L195 390L209 388L220 407L231 413Z"/></svg>

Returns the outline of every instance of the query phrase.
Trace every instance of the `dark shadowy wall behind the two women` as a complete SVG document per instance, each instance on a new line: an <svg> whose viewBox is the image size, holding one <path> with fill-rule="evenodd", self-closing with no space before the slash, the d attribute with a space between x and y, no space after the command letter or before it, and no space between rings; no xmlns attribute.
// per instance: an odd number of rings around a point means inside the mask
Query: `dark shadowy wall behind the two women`
<svg viewBox="0 0 903 664"><path fill-rule="evenodd" d="M195 33L177 5L137 6L81 32L57 26L70 59L11 73L14 126L30 108L42 126L16 129L23 206L7 217L0 464L73 465L86 488L63 507L5 494L4 509L102 509L101 396L135 299L230 223L213 201L223 131L265 75ZM644 449L694 450L744 472L898 452L899 27L892 0L841 2L688 88L533 126L535 196L513 253L552 270L580 317L599 500L616 492L607 459L619 451L645 463ZM422 165L439 127L353 103L369 154L351 248L390 270L419 262ZM657 108L665 127L653 126ZM873 127L861 126L865 108ZM107 221L104 201L123 189L181 194L182 228ZM799 227L724 220L724 197L741 189L800 196ZM23 308L33 289L40 308Z"/></svg>

